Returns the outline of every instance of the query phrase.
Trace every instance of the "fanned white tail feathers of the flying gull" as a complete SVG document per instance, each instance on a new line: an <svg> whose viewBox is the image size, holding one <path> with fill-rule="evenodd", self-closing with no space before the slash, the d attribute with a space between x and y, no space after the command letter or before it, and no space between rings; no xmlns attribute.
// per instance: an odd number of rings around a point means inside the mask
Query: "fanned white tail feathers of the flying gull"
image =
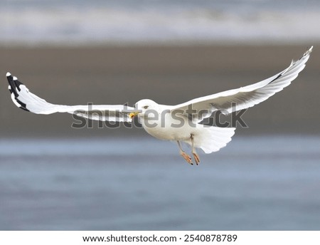
<svg viewBox="0 0 320 245"><path fill-rule="evenodd" d="M194 136L196 148L200 148L205 153L218 152L231 141L235 134L235 127L213 127L198 124L198 130ZM191 145L191 140L187 142Z"/></svg>

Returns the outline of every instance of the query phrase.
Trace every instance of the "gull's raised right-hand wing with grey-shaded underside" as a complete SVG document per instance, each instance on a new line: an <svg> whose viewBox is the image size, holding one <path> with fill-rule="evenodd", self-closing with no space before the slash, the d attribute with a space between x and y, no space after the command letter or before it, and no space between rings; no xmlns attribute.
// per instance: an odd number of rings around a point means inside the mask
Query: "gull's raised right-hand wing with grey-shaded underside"
<svg viewBox="0 0 320 245"><path fill-rule="evenodd" d="M299 72L306 66L305 64L311 51L312 47L304 53L302 58L295 62L292 61L287 69L271 78L238 89L227 90L196 98L180 105L174 105L171 107L171 111L183 110L188 116L192 113L193 121L199 122L204 118L210 117L215 110L220 110L221 113L228 115L238 110L250 108L267 100L267 98L287 87L292 80L297 78Z"/></svg>

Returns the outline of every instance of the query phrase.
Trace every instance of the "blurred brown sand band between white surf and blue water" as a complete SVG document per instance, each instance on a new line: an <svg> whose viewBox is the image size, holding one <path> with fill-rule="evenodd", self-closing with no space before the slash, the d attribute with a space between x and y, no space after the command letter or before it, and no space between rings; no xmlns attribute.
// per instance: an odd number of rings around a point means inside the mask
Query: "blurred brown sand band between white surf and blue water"
<svg viewBox="0 0 320 245"><path fill-rule="evenodd" d="M174 104L255 83L282 71L307 46L148 46L87 48L0 48L1 137L145 135L122 127L75 130L70 115L33 115L18 110L6 90L6 72L51 103L133 105L142 98ZM279 134L319 134L317 46L294 83L248 110L248 129ZM95 124L94 124L95 125ZM103 130L103 132L102 132Z"/></svg>

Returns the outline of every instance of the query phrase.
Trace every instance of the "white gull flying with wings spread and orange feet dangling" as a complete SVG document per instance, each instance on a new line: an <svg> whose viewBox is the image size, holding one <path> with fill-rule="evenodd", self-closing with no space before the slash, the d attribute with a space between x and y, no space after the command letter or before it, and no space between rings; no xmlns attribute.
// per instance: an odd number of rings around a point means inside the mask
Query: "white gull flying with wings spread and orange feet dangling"
<svg viewBox="0 0 320 245"><path fill-rule="evenodd" d="M230 142L235 133L234 127L208 126L201 121L217 110L228 115L267 100L297 78L306 66L311 51L312 47L298 61L292 61L284 71L259 83L195 98L179 105L160 105L149 99L139 100L134 108L126 105L55 105L31 93L26 85L10 73L6 73L6 77L11 99L18 108L36 114L71 113L112 122L131 122L137 116L150 135L161 140L176 141L180 155L193 165L191 156L182 149L181 142L191 145L193 159L198 165L200 158L196 148L207 154L217 152Z"/></svg>

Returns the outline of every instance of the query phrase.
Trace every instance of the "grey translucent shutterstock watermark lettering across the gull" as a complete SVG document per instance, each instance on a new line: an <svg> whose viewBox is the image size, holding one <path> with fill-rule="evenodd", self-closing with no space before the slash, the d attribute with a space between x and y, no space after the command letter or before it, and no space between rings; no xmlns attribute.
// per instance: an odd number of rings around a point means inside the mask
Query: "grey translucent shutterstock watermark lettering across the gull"
<svg viewBox="0 0 320 245"><path fill-rule="evenodd" d="M223 110L215 110L214 112L201 109L196 110L193 105L189 105L187 110L163 110L161 112L153 109L146 110L143 115L137 115L132 120L129 118L130 113L136 113L137 110L128 110L127 104L121 110L97 110L92 103L88 103L87 110L78 110L73 114L73 124L71 127L80 128L117 128L117 127L183 127L188 124L190 127L196 127L201 123L211 127L248 127L242 116L247 109L237 111L236 103L232 103L231 113ZM142 111L140 110L140 113ZM228 116L226 116L228 115ZM140 123L137 118L143 117ZM94 126L93 120L97 120Z"/></svg>

